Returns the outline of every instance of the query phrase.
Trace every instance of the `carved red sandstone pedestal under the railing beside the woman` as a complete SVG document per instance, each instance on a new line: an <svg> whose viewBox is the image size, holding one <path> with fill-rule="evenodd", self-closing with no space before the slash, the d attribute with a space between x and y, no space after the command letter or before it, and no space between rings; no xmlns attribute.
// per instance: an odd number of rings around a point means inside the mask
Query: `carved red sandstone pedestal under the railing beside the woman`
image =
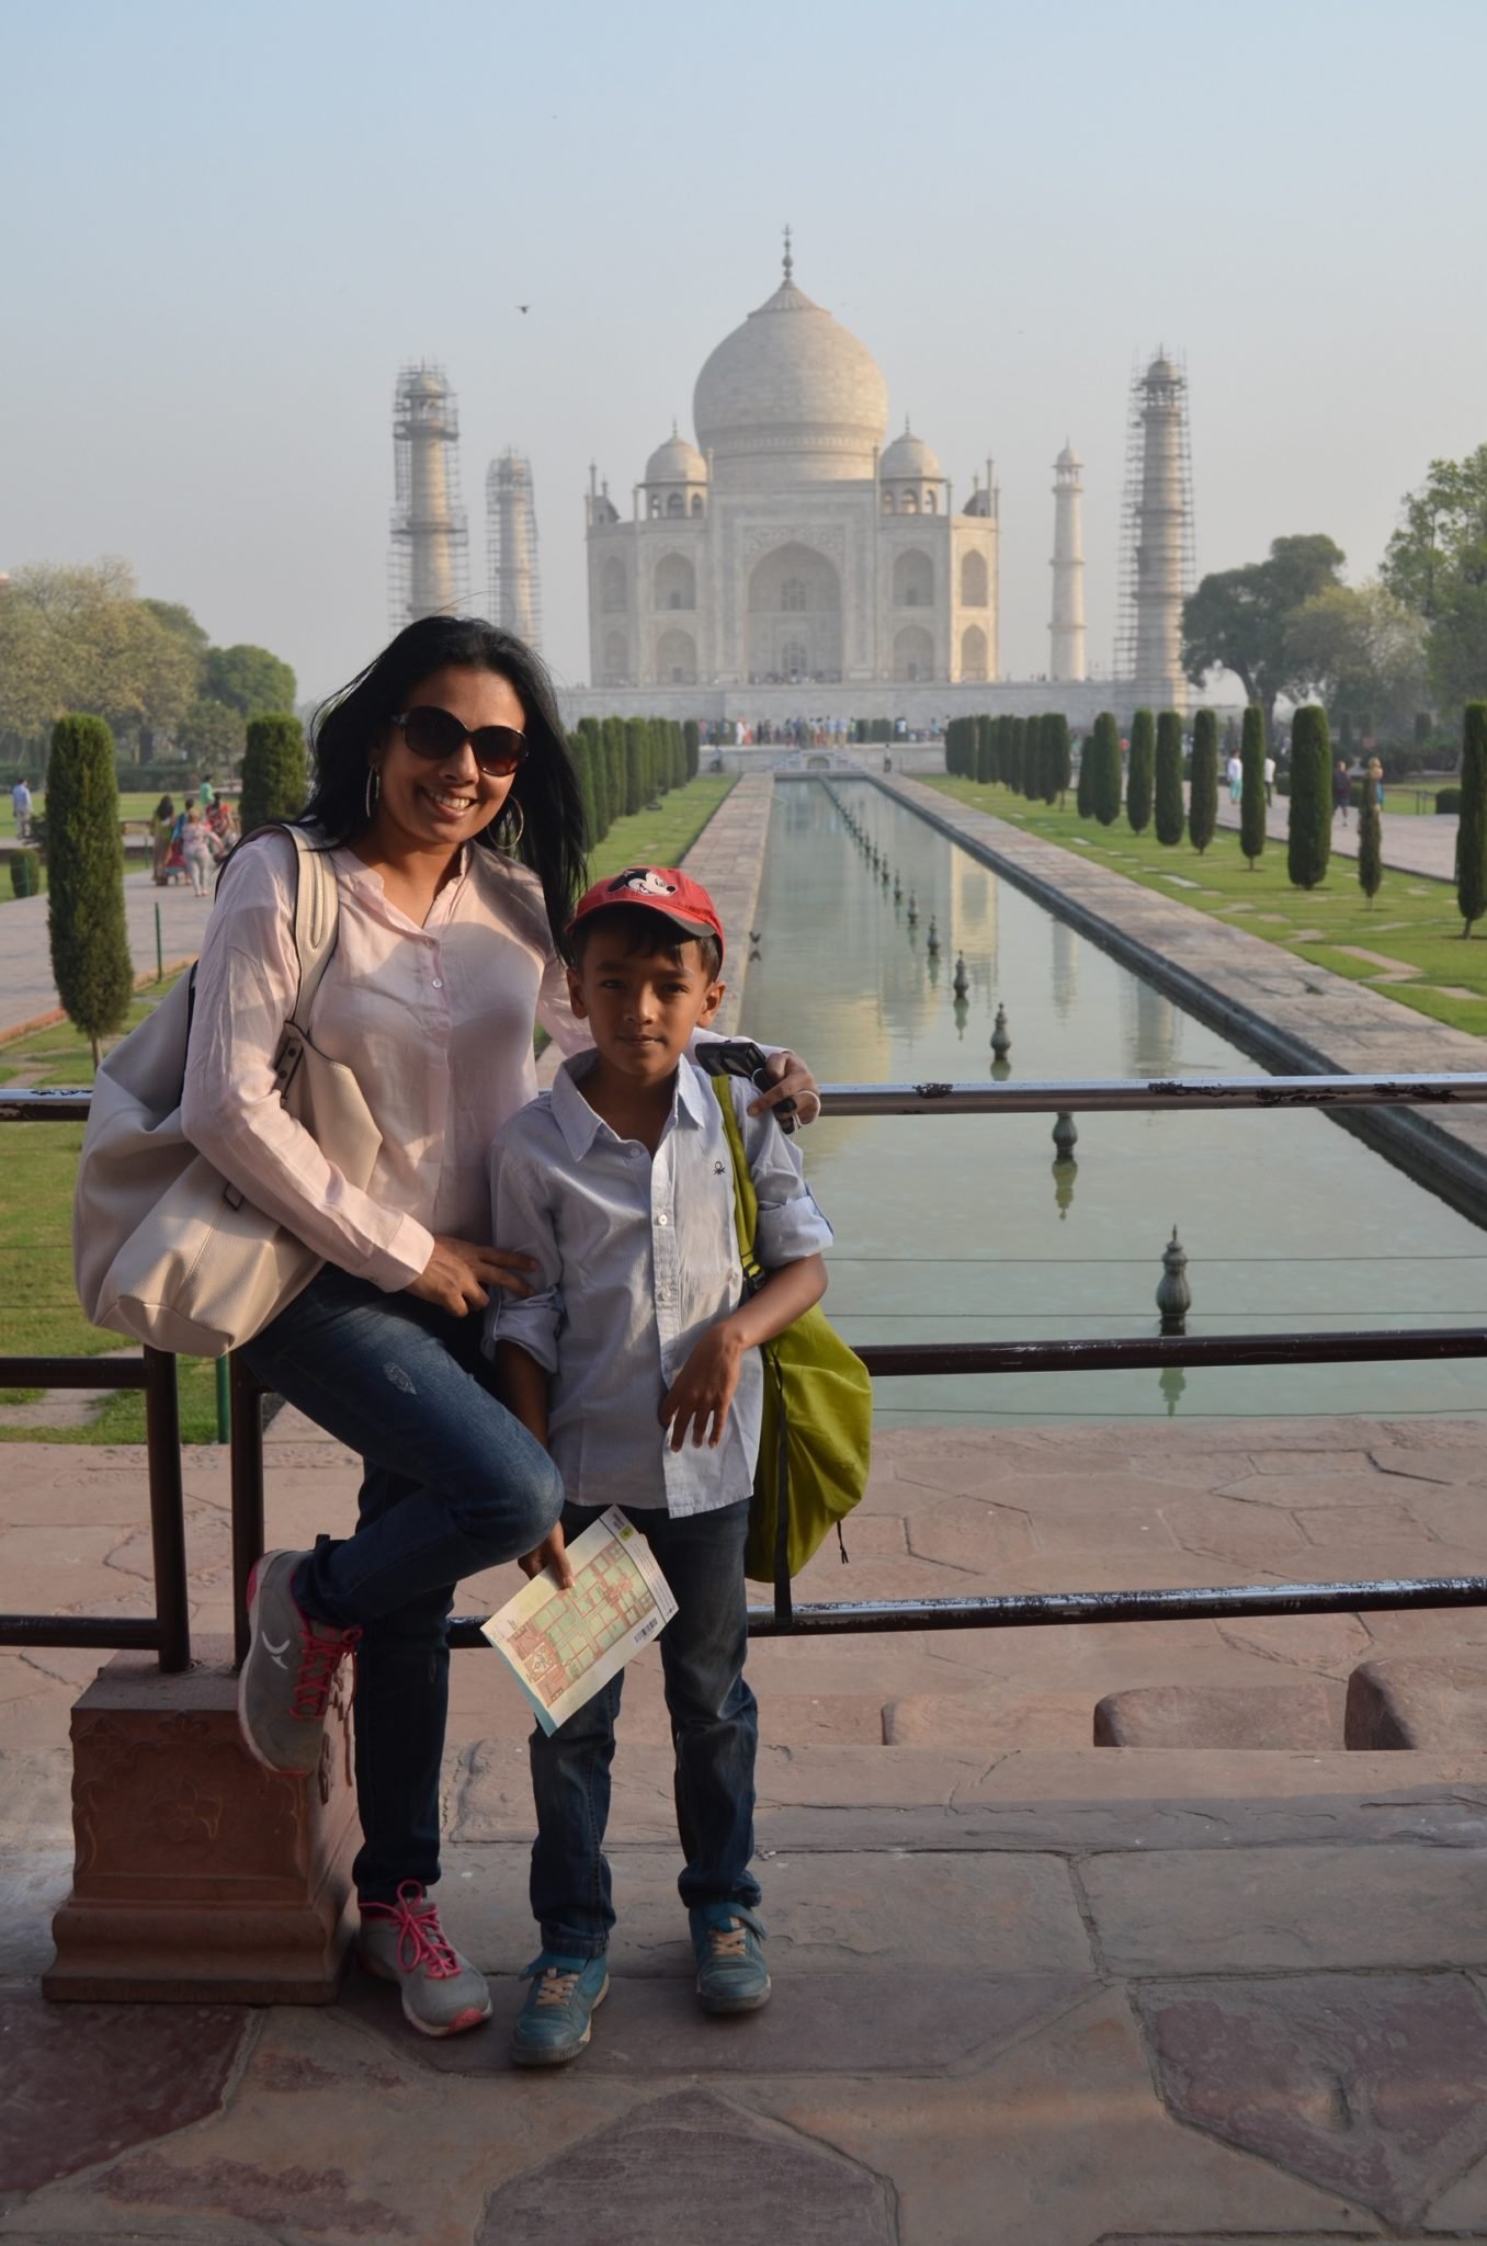
<svg viewBox="0 0 1487 2246"><path fill-rule="evenodd" d="M330 2003L359 1844L348 1669L319 1770L285 1779L238 1736L227 1637L186 1676L117 1653L72 1709L72 1828L47 1997Z"/></svg>

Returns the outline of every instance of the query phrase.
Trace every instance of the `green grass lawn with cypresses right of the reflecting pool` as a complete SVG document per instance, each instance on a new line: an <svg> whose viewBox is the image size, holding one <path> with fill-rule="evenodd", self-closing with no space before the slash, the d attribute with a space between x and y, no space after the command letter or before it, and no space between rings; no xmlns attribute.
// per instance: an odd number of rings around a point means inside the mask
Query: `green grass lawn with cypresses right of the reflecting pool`
<svg viewBox="0 0 1487 2246"><path fill-rule="evenodd" d="M1462 943L1456 892L1447 880L1386 867L1384 887L1368 905L1352 858L1334 856L1316 889L1294 889L1285 876L1285 842L1269 840L1251 874L1240 856L1238 829L1220 827L1199 856L1186 838L1164 849L1150 827L1134 836L1125 813L1114 827L1080 820L1074 793L1058 809L1029 804L1011 788L979 786L973 779L937 777L930 786L1044 842L1098 858L1116 874L1177 896L1197 912L1233 921L1298 959L1368 982L1415 1013L1487 1035L1487 923L1478 923L1478 934ZM1375 952L1377 959L1359 959L1357 952Z"/></svg>

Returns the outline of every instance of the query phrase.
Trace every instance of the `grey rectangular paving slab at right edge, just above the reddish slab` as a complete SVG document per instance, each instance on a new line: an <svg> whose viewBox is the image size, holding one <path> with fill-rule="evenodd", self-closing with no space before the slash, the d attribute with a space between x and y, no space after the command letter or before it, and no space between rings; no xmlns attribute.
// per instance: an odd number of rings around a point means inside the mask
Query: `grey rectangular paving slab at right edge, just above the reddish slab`
<svg viewBox="0 0 1487 2246"><path fill-rule="evenodd" d="M1110 1853L1080 1878L1101 1961L1121 1974L1487 1963L1476 1848Z"/></svg>

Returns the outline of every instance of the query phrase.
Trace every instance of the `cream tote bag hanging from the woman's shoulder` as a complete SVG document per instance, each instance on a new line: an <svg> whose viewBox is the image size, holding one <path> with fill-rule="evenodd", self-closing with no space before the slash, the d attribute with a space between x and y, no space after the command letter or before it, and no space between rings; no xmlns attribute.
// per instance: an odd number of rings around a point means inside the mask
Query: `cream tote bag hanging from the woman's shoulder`
<svg viewBox="0 0 1487 2246"><path fill-rule="evenodd" d="M294 943L299 993L274 1071L290 1114L355 1186L382 1134L341 1060L310 1042L310 1008L337 939L335 871L299 827ZM182 1136L180 1098L195 975L101 1065L72 1202L72 1271L83 1309L130 1341L225 1357L301 1294L323 1258L254 1208Z"/></svg>

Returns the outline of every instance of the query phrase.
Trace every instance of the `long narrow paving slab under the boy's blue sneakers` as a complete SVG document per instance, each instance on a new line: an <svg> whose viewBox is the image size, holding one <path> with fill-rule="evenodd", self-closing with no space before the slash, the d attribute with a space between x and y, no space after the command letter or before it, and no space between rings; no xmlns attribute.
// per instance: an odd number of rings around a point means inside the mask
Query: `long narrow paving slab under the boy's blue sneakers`
<svg viewBox="0 0 1487 2246"><path fill-rule="evenodd" d="M584 2080L973 2073L1098 1985L1089 1972L782 1972L761 2012L708 2019L692 1983L692 1970L669 1979L611 1972ZM409 2028L384 1981L353 1974L339 2012L402 2060L485 2078L510 2069L508 2037L526 1990L508 1981L492 1994L487 2026L443 2042Z"/></svg>

